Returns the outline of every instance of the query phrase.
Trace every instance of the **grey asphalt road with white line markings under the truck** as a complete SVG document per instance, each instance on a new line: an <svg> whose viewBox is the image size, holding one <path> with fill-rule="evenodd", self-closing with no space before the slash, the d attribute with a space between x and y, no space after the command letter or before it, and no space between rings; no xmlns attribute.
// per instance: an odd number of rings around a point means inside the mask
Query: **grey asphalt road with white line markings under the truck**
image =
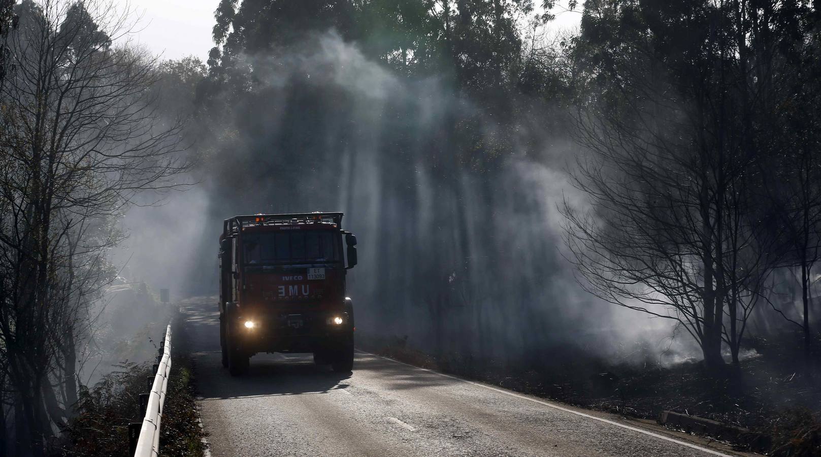
<svg viewBox="0 0 821 457"><path fill-rule="evenodd" d="M183 306L214 457L274 455L705 456L726 446L358 353L354 372L310 354L220 365L213 300ZM676 442L678 441L678 442Z"/></svg>

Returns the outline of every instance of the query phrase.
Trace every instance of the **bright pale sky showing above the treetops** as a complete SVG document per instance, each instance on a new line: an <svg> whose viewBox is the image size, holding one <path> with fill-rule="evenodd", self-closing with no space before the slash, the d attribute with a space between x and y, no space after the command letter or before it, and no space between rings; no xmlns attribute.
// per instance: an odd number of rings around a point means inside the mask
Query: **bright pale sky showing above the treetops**
<svg viewBox="0 0 821 457"><path fill-rule="evenodd" d="M299 0L294 0L299 1ZM536 2L541 3L541 2ZM554 25L557 28L575 27L581 15L577 11L564 11L566 1L557 2ZM161 54L164 59L179 59L189 55L208 60L213 47L211 29L213 11L219 0L127 0L128 7L142 16L135 34L135 43Z"/></svg>

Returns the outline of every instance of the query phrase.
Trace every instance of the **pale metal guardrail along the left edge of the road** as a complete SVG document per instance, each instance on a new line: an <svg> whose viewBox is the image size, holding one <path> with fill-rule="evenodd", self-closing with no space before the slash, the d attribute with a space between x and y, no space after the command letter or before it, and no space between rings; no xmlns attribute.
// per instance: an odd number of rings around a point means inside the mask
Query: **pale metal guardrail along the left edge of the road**
<svg viewBox="0 0 821 457"><path fill-rule="evenodd" d="M165 338L160 341L154 372L157 374L148 378L151 392L140 394L140 415L143 416L143 422L130 423L128 426L129 450L134 457L159 455L159 425L163 418L165 392L171 374L171 325L168 325Z"/></svg>

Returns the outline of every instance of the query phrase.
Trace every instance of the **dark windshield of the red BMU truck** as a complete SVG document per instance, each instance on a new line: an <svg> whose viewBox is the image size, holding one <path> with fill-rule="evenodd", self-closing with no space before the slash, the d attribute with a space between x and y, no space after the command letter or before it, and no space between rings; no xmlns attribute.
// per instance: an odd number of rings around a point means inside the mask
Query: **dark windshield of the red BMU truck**
<svg viewBox="0 0 821 457"><path fill-rule="evenodd" d="M328 231L249 233L242 236L245 263L332 263L340 234Z"/></svg>

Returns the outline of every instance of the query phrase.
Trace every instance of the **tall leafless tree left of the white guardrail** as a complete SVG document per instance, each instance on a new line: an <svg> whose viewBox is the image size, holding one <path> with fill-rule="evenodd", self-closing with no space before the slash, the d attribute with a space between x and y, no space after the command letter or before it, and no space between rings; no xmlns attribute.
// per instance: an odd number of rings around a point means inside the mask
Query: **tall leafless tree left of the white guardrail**
<svg viewBox="0 0 821 457"><path fill-rule="evenodd" d="M156 62L112 46L130 31L127 11L64 0L17 10L16 71L2 88L0 346L30 443L17 454L42 455L76 400L76 336L105 280L100 253L113 240L89 228L141 190L184 185L188 164L180 123L152 107Z"/></svg>

